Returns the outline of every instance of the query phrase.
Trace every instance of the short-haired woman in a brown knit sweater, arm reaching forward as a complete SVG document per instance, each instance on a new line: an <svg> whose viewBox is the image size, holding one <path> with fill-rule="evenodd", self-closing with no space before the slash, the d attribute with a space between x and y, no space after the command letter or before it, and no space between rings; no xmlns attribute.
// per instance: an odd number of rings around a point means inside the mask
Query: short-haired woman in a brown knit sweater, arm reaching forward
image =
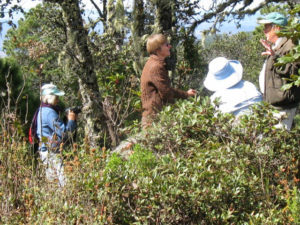
<svg viewBox="0 0 300 225"><path fill-rule="evenodd" d="M165 58L170 56L171 45L163 34L151 35L147 40L147 52L150 54L141 77L141 99L143 106L142 126L148 127L155 114L175 99L195 96L196 91L183 91L171 87Z"/></svg>

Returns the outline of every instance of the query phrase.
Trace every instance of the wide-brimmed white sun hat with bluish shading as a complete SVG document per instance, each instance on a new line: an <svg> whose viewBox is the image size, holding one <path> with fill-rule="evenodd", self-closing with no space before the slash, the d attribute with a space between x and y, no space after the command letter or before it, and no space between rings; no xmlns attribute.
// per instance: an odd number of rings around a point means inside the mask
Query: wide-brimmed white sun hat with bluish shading
<svg viewBox="0 0 300 225"><path fill-rule="evenodd" d="M239 83L242 76L243 66L239 61L217 57L209 63L204 86L210 91L230 88Z"/></svg>

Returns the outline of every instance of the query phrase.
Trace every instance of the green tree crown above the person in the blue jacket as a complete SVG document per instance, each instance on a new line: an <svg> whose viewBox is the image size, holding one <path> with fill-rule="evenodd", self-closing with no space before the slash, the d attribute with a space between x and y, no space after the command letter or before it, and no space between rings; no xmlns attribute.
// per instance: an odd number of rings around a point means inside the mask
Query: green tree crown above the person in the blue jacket
<svg viewBox="0 0 300 225"><path fill-rule="evenodd" d="M49 19L51 18L51 19ZM66 37L61 11L53 4L38 5L25 13L18 27L8 30L3 46L8 56L16 58L33 85L39 87L38 68L43 65L42 82L62 82L63 72L57 58Z"/></svg>

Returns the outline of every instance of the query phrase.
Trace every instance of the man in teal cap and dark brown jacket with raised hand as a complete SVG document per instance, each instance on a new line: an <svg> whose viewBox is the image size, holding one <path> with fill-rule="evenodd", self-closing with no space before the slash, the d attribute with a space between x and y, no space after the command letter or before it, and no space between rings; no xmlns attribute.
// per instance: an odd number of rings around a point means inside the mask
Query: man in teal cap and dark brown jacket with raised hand
<svg viewBox="0 0 300 225"><path fill-rule="evenodd" d="M278 12L273 12L265 18L258 19L257 22L264 25L263 31L266 40L260 40L260 42L266 49L262 55L267 56L259 75L260 90L263 93L264 101L279 111L274 114L274 117L286 117L277 127L285 127L290 130L300 100L300 88L293 86L286 91L281 88L287 83L284 78L289 78L291 74L297 74L300 63L288 63L284 68L274 66L279 57L286 55L294 48L292 40L279 37L277 34L287 25L287 18Z"/></svg>

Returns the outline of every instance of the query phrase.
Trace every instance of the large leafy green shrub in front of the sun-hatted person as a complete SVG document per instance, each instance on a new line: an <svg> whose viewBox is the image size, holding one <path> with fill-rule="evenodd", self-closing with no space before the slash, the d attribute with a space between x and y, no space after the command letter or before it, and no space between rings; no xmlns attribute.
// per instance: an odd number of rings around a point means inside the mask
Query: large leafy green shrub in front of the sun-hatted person
<svg viewBox="0 0 300 225"><path fill-rule="evenodd" d="M257 108L234 126L230 115L214 117L207 99L201 104L197 99L167 107L142 142L157 155L158 161L152 160L157 167L139 179L136 174L131 178L126 163L118 164L118 180L111 180L119 184L115 192L122 191L122 184L132 186L130 193L142 192L135 201L128 197L134 221L138 218L142 224L289 221L283 195L297 184L298 131L275 130L277 121L270 116L267 108ZM139 153L135 149L132 157ZM138 160L135 165L140 165ZM123 201L117 204L119 210L127 207L121 207Z"/></svg>

